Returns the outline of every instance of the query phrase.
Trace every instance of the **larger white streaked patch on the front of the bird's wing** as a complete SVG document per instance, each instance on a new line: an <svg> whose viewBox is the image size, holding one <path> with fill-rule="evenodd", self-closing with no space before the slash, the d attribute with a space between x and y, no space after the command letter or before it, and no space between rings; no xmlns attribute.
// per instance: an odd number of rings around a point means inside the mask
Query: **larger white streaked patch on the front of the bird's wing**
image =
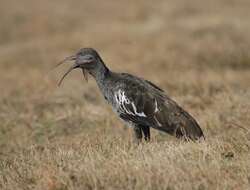
<svg viewBox="0 0 250 190"><path fill-rule="evenodd" d="M118 109L122 113L130 114L133 116L147 117L144 112L138 112L134 102L130 101L128 97L126 97L125 92L122 90L118 90L115 93L115 101L118 104ZM126 108L126 105L131 105L133 110L129 110Z"/></svg>

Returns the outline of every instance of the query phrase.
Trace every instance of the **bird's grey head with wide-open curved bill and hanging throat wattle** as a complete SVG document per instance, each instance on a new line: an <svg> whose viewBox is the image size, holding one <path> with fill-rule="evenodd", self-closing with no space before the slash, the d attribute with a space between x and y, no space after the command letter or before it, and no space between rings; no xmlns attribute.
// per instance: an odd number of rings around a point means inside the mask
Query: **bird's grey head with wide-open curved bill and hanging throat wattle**
<svg viewBox="0 0 250 190"><path fill-rule="evenodd" d="M88 73L92 75L97 75L106 68L101 57L93 48L82 48L75 55L66 57L57 66L61 65L66 61L74 61L74 64L69 68L69 70L61 78L59 85L62 83L63 79L74 69L82 69L84 78L88 79Z"/></svg>

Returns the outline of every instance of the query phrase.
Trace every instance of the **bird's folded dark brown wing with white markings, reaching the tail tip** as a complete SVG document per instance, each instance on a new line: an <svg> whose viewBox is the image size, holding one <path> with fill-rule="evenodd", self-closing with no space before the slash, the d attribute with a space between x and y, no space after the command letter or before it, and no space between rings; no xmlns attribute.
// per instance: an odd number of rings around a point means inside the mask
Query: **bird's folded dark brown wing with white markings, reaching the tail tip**
<svg viewBox="0 0 250 190"><path fill-rule="evenodd" d="M193 117L159 87L145 80L129 80L127 84L115 93L122 119L176 136L187 135L192 139L203 136Z"/></svg>

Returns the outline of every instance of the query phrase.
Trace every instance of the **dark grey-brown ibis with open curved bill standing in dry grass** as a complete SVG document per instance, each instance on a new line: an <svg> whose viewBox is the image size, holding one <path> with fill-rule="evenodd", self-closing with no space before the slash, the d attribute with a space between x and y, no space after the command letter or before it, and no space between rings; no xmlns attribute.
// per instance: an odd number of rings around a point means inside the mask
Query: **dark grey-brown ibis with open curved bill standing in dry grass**
<svg viewBox="0 0 250 190"><path fill-rule="evenodd" d="M195 119L161 88L131 74L112 72L96 50L82 48L58 65L65 61L74 61L74 64L59 85L73 69L82 69L86 80L88 74L92 75L114 112L133 128L138 142L143 136L146 141L150 140L150 127L185 140L204 138Z"/></svg>

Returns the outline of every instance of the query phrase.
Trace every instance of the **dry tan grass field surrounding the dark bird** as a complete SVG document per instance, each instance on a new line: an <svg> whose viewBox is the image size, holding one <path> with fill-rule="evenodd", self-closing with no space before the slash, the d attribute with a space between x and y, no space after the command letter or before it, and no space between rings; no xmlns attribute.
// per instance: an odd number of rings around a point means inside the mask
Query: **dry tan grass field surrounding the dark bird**
<svg viewBox="0 0 250 190"><path fill-rule="evenodd" d="M249 0L0 0L1 190L250 189ZM153 81L206 141L135 146L94 80L53 66L94 47Z"/></svg>

